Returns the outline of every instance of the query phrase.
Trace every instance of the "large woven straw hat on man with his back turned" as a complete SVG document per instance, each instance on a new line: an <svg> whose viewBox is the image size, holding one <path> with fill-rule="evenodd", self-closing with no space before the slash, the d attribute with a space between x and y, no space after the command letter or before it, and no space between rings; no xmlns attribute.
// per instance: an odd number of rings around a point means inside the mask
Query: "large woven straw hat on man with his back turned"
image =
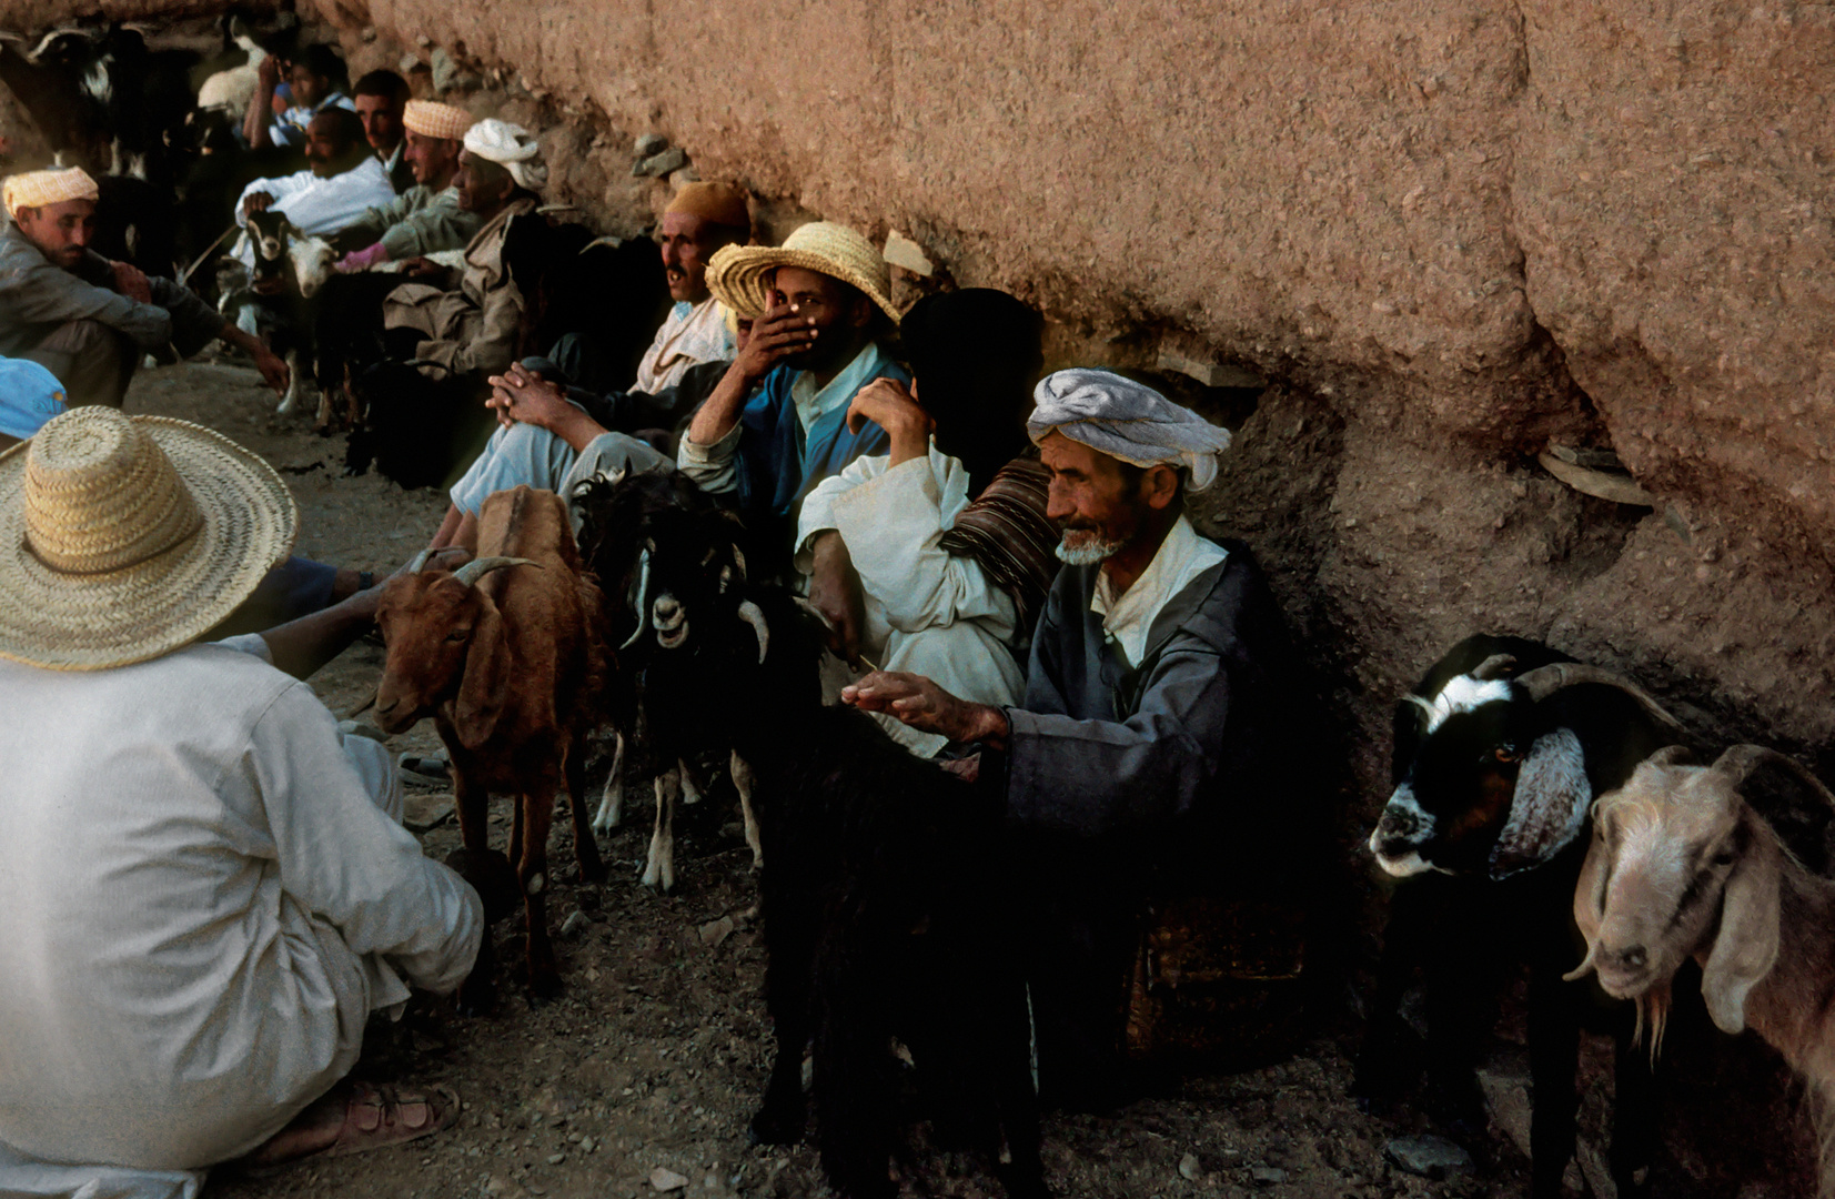
<svg viewBox="0 0 1835 1199"><path fill-rule="evenodd" d="M169 654L294 545L268 463L207 428L77 408L0 454L0 657L103 670Z"/></svg>

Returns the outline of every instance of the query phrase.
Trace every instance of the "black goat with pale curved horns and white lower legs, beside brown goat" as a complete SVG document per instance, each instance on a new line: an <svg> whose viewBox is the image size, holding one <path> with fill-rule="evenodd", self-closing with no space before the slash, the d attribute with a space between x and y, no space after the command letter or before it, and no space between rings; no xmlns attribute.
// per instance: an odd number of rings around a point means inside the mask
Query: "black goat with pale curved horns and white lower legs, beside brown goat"
<svg viewBox="0 0 1835 1199"><path fill-rule="evenodd" d="M571 498L580 516L580 545L589 569L602 580L607 613L606 624L620 646L617 683L611 701L613 762L593 817L593 832L607 834L624 821L624 782L628 768L642 762L651 768L657 799L655 826L650 834L650 854L644 861L644 885L662 892L675 891L675 808L701 801L692 760L697 747L681 745L673 729L651 722L640 701L637 679L653 654L651 632L651 571L661 564L668 577L673 571L672 555L695 558L694 578L712 575L716 588L745 582L745 555L736 538L740 527L723 516L714 499L677 472L642 472L598 476L584 481ZM708 567L714 567L708 571ZM681 615L672 595L657 593L664 610ZM670 617L670 619L677 619ZM659 637L683 637L686 626L657 626ZM752 850L752 865L763 865L763 846L758 817L752 812L752 771L745 760L727 749L734 790L740 793L740 813L745 821L745 843Z"/></svg>

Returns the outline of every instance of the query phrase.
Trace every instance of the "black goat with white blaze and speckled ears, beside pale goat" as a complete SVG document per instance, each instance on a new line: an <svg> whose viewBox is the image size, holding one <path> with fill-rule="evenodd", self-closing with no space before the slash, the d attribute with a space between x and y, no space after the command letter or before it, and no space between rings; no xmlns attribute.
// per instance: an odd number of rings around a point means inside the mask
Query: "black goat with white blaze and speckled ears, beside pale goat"
<svg viewBox="0 0 1835 1199"><path fill-rule="evenodd" d="M1395 896L1356 1091L1396 1085L1396 1008L1420 964L1435 1115L1483 1129L1472 1067L1503 971L1527 962L1534 1199L1560 1195L1574 1153L1580 1028L1595 1008L1617 1037L1611 1173L1620 1195L1648 1193L1655 1083L1631 1004L1562 975L1578 960L1571 907L1593 797L1679 740L1631 683L1519 637L1461 641L1396 703L1396 786L1369 843L1389 874L1422 878Z"/></svg>

